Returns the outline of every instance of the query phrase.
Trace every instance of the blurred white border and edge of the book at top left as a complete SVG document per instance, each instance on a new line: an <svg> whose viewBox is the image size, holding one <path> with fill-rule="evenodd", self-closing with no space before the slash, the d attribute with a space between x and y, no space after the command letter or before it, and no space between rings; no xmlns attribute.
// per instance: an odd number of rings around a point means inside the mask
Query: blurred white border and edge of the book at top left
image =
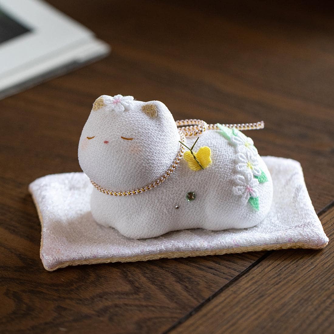
<svg viewBox="0 0 334 334"><path fill-rule="evenodd" d="M0 43L0 99L110 51L92 31L43 1L0 0L0 9L30 29Z"/></svg>

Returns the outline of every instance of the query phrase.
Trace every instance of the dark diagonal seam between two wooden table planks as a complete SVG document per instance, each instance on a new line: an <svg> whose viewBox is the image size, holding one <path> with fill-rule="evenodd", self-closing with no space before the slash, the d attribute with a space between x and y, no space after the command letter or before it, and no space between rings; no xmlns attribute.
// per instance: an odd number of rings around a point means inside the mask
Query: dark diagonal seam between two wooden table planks
<svg viewBox="0 0 334 334"><path fill-rule="evenodd" d="M327 205L325 205L321 210L317 212L318 217L323 215L325 212L327 212L329 209L331 209L334 206L334 200L329 202ZM221 288L219 288L217 291L212 293L207 299L203 300L200 304L198 304L196 307L194 307L190 312L188 312L185 316L180 318L177 322L175 322L171 327L169 327L166 331L163 332L163 334L170 333L172 330L177 328L179 325L184 323L186 320L188 320L190 317L195 315L203 306L205 306L207 303L209 303L211 300L213 300L215 297L217 297L219 294L221 294L223 291L225 291L227 288L229 288L232 284L237 282L242 276L247 274L249 271L251 271L253 268L255 268L260 262L265 260L273 251L267 251L264 255L262 255L259 259L254 261L251 265L249 265L246 269L244 269L241 273L239 273L237 276L232 278L228 283L223 285Z"/></svg>

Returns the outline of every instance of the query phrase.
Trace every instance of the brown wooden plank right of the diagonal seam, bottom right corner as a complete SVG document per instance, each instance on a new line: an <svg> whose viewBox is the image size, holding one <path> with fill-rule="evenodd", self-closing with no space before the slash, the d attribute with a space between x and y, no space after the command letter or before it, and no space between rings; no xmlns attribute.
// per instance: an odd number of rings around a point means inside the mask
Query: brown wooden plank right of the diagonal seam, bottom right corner
<svg viewBox="0 0 334 334"><path fill-rule="evenodd" d="M334 207L321 216L334 237ZM271 252L170 333L333 333L334 245Z"/></svg>

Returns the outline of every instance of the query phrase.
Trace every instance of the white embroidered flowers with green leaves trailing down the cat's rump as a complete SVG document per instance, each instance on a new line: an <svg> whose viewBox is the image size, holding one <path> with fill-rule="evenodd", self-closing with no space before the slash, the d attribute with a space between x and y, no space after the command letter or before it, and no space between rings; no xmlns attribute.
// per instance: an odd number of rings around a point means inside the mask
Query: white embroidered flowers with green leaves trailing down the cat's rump
<svg viewBox="0 0 334 334"><path fill-rule="evenodd" d="M238 174L233 178L234 195L241 196L243 203L249 203L255 210L260 209L258 185L268 181L267 175L259 167L260 156L251 138L235 128L217 124L218 133L227 139L236 151L235 169Z"/></svg>

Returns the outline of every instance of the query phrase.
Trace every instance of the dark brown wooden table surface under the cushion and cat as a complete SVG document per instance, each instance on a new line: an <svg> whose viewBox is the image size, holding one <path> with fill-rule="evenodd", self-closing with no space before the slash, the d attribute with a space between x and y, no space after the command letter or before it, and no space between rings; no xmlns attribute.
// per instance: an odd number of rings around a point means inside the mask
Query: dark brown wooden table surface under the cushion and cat
<svg viewBox="0 0 334 334"><path fill-rule="evenodd" d="M0 101L1 333L333 333L334 246L47 272L28 184L80 171L102 95L163 101L175 119L264 120L262 155L296 159L334 236L334 20L326 2L79 1L55 7L112 46ZM270 3L270 4L269 4Z"/></svg>

